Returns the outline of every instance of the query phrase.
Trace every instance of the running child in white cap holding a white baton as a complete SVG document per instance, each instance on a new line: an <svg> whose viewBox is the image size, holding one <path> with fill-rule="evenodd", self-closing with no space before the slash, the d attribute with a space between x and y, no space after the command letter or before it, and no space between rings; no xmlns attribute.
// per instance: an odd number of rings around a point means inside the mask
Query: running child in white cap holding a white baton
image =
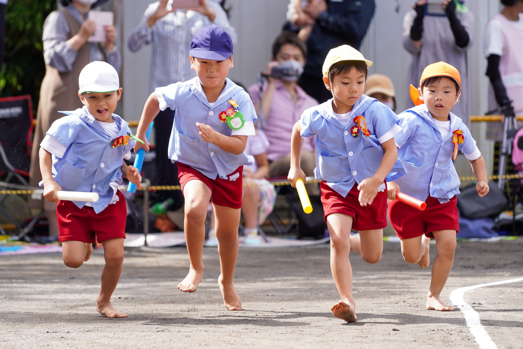
<svg viewBox="0 0 523 349"><path fill-rule="evenodd" d="M104 246L96 310L108 318L127 314L111 305L123 263L127 206L118 186L122 177L141 188L137 168L127 166L135 141L127 122L113 114L122 94L118 73L105 62L87 64L78 78L78 97L85 104L53 122L40 144L43 196L58 202L59 241L63 261L71 268L89 260L93 243ZM98 193L94 203L58 200L60 190Z"/></svg>

